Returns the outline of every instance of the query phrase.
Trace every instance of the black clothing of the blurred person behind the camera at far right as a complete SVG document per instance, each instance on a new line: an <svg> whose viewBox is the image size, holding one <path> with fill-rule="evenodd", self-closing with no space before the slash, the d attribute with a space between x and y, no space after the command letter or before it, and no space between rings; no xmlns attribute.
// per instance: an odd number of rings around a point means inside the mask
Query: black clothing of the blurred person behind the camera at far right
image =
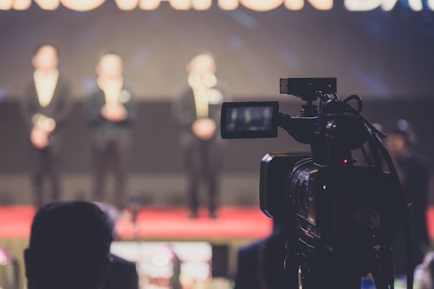
<svg viewBox="0 0 434 289"><path fill-rule="evenodd" d="M415 152L401 157L395 164L401 170L401 183L407 203L413 204L410 211L410 231L412 239L413 270L422 263L424 254L429 248L428 231L426 227L426 209L428 206L428 189L430 173L428 164ZM406 243L403 239L403 229L398 231L393 247L394 273L406 274Z"/></svg>

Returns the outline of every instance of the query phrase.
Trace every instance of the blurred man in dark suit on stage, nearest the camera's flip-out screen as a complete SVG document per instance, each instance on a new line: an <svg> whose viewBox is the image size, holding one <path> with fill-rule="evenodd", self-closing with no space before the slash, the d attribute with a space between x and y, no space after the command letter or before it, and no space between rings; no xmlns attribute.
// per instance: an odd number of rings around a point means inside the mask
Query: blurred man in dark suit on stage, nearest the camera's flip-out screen
<svg viewBox="0 0 434 289"><path fill-rule="evenodd" d="M188 78L175 98L173 114L180 132L189 195L189 217L198 217L199 190L207 185L209 217L217 217L223 165L220 137L221 104L228 100L225 84L216 78L216 60L200 51L186 64Z"/></svg>

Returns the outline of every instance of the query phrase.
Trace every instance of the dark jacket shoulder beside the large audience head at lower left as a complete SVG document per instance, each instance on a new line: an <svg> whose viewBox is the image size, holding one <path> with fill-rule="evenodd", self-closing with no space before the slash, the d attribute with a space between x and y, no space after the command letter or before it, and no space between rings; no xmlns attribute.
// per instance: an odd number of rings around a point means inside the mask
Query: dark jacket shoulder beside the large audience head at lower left
<svg viewBox="0 0 434 289"><path fill-rule="evenodd" d="M139 276L136 263L122 259L112 254L113 262L110 265L102 289L138 289Z"/></svg>

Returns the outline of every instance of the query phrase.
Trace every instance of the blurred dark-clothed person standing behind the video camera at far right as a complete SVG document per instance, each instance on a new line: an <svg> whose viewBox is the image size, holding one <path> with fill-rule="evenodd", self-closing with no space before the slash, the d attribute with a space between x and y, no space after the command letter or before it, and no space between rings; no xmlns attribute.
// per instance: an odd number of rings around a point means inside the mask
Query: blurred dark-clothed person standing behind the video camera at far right
<svg viewBox="0 0 434 289"><path fill-rule="evenodd" d="M406 263L406 243L404 232L398 231L392 248L394 273L403 277L407 270L413 272L416 265L422 263L429 249L426 209L430 193L430 169L426 159L417 152L417 136L413 125L404 119L385 124L385 146L397 169L407 203L413 204L408 221L410 222L411 253L413 264ZM408 267L410 266L410 267Z"/></svg>

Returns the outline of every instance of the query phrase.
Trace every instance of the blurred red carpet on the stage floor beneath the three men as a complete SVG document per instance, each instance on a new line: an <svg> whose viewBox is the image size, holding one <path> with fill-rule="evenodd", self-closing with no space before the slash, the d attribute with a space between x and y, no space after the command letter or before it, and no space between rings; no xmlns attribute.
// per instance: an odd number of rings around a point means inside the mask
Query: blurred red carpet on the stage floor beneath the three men
<svg viewBox="0 0 434 289"><path fill-rule="evenodd" d="M0 207L0 238L28 238L35 209L31 206ZM218 218L208 218L207 210L199 218L186 217L181 207L143 207L137 217L137 238L144 240L209 240L262 238L270 234L272 220L258 207L222 207ZM119 220L116 231L121 239L134 238L130 220Z"/></svg>

